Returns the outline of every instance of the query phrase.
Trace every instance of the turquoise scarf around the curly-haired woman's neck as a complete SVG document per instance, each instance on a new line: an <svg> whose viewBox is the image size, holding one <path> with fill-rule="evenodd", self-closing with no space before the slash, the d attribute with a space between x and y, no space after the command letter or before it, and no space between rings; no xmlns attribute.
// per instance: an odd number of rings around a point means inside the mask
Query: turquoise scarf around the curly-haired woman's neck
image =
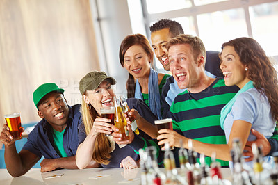
<svg viewBox="0 0 278 185"><path fill-rule="evenodd" d="M245 92L246 90L248 90L250 88L254 88L252 81L248 81L245 84L245 86L243 86L242 89L238 90L238 93L236 93L236 95L221 109L220 126L223 130L224 130L224 127L223 127L224 121L225 121L228 113L231 112L231 107L234 105L234 102L236 102L236 98L238 97L238 95L240 95L241 93Z"/></svg>

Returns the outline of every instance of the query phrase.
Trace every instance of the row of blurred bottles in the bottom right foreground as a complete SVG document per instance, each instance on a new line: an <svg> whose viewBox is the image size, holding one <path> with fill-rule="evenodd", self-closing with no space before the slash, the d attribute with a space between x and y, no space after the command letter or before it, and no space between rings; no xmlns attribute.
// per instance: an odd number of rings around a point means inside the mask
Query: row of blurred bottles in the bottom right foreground
<svg viewBox="0 0 278 185"><path fill-rule="evenodd" d="M182 142L182 141L181 141ZM181 143L182 145L182 143ZM142 169L141 184L275 184L278 185L278 153L275 156L275 163L272 168L264 165L263 152L261 147L252 145L254 154L254 166L250 168L246 165L241 152L242 146L240 140L234 140L231 157L233 166L231 170L231 182L222 179L220 164L216 162L214 153L211 157L211 167L205 163L204 154L200 155L200 164L197 163L196 153L193 152L192 143L188 143L189 149L179 149L180 168L176 168L174 163L174 154L170 150L169 144L165 143L164 169L158 168L156 160L156 147L147 147L146 150L140 150L140 166Z"/></svg>

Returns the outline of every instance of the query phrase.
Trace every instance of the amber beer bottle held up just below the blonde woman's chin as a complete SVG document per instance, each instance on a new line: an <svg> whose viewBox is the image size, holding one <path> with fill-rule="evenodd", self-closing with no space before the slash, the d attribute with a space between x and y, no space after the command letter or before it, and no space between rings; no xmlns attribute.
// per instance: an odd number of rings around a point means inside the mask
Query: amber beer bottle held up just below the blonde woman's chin
<svg viewBox="0 0 278 185"><path fill-rule="evenodd" d="M117 127L122 134L122 140L129 140L129 131L127 130L127 122L126 118L124 117L124 111L122 111L122 107L120 104L120 99L117 97L113 97L114 104L115 104L115 127Z"/></svg>

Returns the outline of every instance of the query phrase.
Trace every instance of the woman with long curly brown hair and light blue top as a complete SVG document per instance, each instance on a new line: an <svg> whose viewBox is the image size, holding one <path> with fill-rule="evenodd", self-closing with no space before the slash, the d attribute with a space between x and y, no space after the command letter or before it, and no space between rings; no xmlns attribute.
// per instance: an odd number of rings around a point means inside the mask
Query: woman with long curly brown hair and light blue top
<svg viewBox="0 0 278 185"><path fill-rule="evenodd" d="M220 69L224 74L226 86L238 86L240 90L230 102L222 108L220 123L224 129L227 144L207 144L192 140L193 150L211 156L216 152L216 158L231 161L230 149L234 138L241 140L245 146L247 140L255 140L251 129L261 132L270 138L278 120L278 80L277 72L270 59L258 42L252 38L236 38L222 45ZM158 140L180 147L179 139L183 139L183 147L188 148L188 138L179 136L168 130L161 130L163 135ZM167 139L172 134L174 140ZM242 148L243 150L243 148ZM264 161L271 161L271 156L265 156ZM252 166L251 162L247 162Z"/></svg>

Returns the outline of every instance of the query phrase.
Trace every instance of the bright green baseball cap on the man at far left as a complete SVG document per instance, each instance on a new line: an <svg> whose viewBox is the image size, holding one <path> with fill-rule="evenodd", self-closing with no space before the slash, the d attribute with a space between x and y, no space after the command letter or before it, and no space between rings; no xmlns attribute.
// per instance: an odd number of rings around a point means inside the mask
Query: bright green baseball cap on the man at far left
<svg viewBox="0 0 278 185"><path fill-rule="evenodd" d="M33 101L35 106L38 108L40 99L53 91L56 91L57 93L64 93L65 90L63 90L63 88L58 88L55 83L44 83L38 87L33 93Z"/></svg>

